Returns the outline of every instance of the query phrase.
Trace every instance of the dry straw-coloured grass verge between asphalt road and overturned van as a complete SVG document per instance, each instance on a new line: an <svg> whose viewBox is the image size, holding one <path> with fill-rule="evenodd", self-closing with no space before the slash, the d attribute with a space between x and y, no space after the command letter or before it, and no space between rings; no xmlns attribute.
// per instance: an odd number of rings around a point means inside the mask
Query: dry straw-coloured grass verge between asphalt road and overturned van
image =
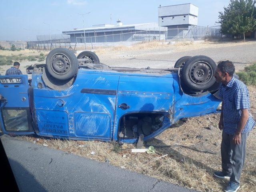
<svg viewBox="0 0 256 192"><path fill-rule="evenodd" d="M249 86L251 111L256 114L256 87ZM50 148L84 156L101 162L109 160L110 164L126 168L154 178L193 188L199 191L222 191L227 180L214 178L212 173L221 169L220 142L221 131L218 130L219 114L189 118L179 121L172 128L147 142L149 145L191 146L199 150L210 150L217 154L201 153L180 147L156 148L156 154L134 154L134 144L119 146L116 142L59 140L40 137L37 144L47 144ZM213 125L214 130L208 127ZM198 136L201 136L198 137ZM22 136L33 142L33 136ZM247 141L246 164L241 176L240 192L256 191L256 132L250 133ZM81 146L82 145L82 146ZM95 152L95 155L90 154ZM168 156L162 157L168 154ZM124 157L125 156L125 157ZM161 158L162 157L162 158Z"/></svg>

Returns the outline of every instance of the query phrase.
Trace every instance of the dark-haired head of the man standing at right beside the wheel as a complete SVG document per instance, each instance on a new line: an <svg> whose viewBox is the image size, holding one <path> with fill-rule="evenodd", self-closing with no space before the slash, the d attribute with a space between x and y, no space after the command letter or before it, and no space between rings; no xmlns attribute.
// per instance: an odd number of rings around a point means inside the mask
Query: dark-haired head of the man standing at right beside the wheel
<svg viewBox="0 0 256 192"><path fill-rule="evenodd" d="M234 72L235 66L231 61L220 61L218 62L214 77L218 83L221 82L223 84L227 84L232 78Z"/></svg>

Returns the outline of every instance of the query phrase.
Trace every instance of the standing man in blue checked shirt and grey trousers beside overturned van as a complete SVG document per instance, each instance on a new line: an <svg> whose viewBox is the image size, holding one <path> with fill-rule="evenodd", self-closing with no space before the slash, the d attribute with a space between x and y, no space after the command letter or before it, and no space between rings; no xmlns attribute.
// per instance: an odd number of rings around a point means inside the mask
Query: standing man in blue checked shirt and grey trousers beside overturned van
<svg viewBox="0 0 256 192"><path fill-rule="evenodd" d="M225 192L240 188L240 175L246 156L246 138L255 125L250 114L250 98L246 85L234 78L235 67L230 61L218 63L214 74L221 82L219 96L222 98L219 128L222 130L222 171L214 172L218 178L230 179Z"/></svg>

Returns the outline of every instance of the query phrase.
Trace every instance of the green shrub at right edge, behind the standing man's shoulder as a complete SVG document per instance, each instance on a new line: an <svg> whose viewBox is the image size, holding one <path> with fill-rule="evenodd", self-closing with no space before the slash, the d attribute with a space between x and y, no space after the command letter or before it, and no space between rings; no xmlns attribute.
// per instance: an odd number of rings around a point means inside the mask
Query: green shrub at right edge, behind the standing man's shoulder
<svg viewBox="0 0 256 192"><path fill-rule="evenodd" d="M237 74L246 85L256 85L256 63L245 67L243 71Z"/></svg>

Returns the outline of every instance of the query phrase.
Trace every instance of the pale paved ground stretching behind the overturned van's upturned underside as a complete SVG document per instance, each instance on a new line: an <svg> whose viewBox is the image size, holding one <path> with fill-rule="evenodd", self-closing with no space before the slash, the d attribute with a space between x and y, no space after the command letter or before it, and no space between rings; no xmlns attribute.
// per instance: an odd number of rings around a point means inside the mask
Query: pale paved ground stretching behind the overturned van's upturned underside
<svg viewBox="0 0 256 192"><path fill-rule="evenodd" d="M100 61L109 66L170 68L182 56L206 55L215 62L231 60L236 69L256 62L256 41L246 43L193 44L145 50L111 51L99 54Z"/></svg>

